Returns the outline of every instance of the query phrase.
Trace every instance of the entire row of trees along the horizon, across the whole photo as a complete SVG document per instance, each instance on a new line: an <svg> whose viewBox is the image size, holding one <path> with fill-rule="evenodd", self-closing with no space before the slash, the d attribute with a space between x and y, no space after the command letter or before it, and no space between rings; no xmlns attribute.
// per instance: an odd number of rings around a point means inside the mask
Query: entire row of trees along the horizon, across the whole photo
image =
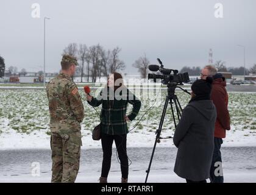
<svg viewBox="0 0 256 195"><path fill-rule="evenodd" d="M109 73L113 73L118 70L123 70L126 66L124 65L123 60L119 59L119 53L121 48L116 47L112 50L104 49L100 44L87 47L86 44L76 44L70 43L63 50L63 54L74 55L79 60L79 67L77 67L76 74L81 77L81 82L83 82L83 76L85 72L87 73L87 82L89 82L89 77L92 78L92 82L96 82L96 79L99 79L102 76L107 77ZM132 64L134 68L138 69L138 73L142 79L148 77L148 66L150 65L148 57L144 54L141 57L138 57L137 60ZM244 67L240 66L238 68L226 67L225 62L218 60L214 64L215 68L219 72L230 72L233 75L243 75ZM17 73L18 68L16 66L9 66L8 72L10 75ZM5 72L5 62L4 58L0 56L0 77L4 77ZM199 76L201 73L200 66L183 66L180 69L179 73L188 73L190 76ZM250 68L245 69L245 74L249 73L256 74L256 63ZM22 68L19 75L26 76L26 69ZM43 75L43 71L38 71L38 76Z"/></svg>

